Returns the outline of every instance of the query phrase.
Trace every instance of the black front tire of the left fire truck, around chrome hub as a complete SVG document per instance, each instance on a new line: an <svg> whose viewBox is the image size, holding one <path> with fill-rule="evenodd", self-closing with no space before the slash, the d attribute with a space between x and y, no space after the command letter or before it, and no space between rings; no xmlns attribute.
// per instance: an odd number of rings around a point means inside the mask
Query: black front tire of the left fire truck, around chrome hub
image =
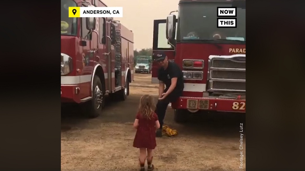
<svg viewBox="0 0 305 171"><path fill-rule="evenodd" d="M101 104L97 104L97 91L96 87L101 91L100 99L102 99ZM89 118L96 118L102 114L102 108L105 106L105 87L103 86L101 80L97 75L93 77L93 97L90 101L85 102L82 106L83 113Z"/></svg>

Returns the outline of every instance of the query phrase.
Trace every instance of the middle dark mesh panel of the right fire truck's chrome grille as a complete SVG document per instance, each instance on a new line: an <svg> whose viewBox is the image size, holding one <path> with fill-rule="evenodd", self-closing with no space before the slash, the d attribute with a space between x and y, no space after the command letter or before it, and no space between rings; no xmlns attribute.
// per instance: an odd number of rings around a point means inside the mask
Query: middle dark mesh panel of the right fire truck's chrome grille
<svg viewBox="0 0 305 171"><path fill-rule="evenodd" d="M242 79L246 80L246 72L213 70L212 79Z"/></svg>

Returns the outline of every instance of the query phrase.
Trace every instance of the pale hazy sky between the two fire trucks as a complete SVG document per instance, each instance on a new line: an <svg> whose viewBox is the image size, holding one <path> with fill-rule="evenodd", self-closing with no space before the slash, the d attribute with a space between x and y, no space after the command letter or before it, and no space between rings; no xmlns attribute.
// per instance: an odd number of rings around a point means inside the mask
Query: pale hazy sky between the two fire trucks
<svg viewBox="0 0 305 171"><path fill-rule="evenodd" d="M123 7L124 26L134 33L134 49L152 48L153 20L166 19L178 9L179 0L102 0L107 6ZM177 13L174 13L177 15Z"/></svg>

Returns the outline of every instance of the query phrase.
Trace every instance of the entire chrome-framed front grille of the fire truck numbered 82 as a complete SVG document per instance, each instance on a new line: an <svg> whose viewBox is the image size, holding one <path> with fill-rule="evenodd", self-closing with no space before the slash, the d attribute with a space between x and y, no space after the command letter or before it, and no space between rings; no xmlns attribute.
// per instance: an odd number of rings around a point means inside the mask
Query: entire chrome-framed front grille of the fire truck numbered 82
<svg viewBox="0 0 305 171"><path fill-rule="evenodd" d="M209 57L209 91L246 92L246 54Z"/></svg>

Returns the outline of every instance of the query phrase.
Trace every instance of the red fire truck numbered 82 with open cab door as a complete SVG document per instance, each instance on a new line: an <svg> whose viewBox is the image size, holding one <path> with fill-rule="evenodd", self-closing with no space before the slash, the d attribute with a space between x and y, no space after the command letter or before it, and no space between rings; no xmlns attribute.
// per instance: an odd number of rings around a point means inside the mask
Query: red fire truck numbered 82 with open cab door
<svg viewBox="0 0 305 171"><path fill-rule="evenodd" d="M183 96L171 104L176 122L190 112L246 112L245 2L180 0L178 18L154 20L153 53L164 51L184 74ZM236 28L217 28L217 7L237 7ZM153 62L152 83L158 68Z"/></svg>

